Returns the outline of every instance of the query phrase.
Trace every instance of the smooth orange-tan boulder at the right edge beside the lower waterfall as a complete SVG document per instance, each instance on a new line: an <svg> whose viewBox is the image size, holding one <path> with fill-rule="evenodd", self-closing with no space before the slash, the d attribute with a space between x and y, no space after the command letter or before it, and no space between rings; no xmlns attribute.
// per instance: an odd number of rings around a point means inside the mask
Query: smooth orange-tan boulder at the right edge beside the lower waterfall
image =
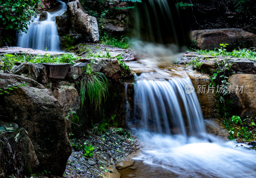
<svg viewBox="0 0 256 178"><path fill-rule="evenodd" d="M245 118L253 116L256 112L256 75L233 74L228 82L233 88L233 92L230 93L230 99L233 101L230 106L232 114Z"/></svg>

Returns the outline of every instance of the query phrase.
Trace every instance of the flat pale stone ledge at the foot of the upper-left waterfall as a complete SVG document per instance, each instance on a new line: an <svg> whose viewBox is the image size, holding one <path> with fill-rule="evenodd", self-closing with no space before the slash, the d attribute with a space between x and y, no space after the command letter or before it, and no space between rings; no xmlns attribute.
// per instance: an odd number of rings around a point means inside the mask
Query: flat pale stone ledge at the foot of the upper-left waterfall
<svg viewBox="0 0 256 178"><path fill-rule="evenodd" d="M21 47L16 47L16 46L13 46L13 47L2 47L0 48L0 54L6 54L6 53L10 53L10 54L30 54L30 55L33 55L33 56L36 56L36 55L44 55L45 54L45 51L43 50L33 50L31 48L21 48ZM64 54L66 52L52 52L52 51L46 51L47 54L51 54L51 55L60 55L60 54Z"/></svg>

